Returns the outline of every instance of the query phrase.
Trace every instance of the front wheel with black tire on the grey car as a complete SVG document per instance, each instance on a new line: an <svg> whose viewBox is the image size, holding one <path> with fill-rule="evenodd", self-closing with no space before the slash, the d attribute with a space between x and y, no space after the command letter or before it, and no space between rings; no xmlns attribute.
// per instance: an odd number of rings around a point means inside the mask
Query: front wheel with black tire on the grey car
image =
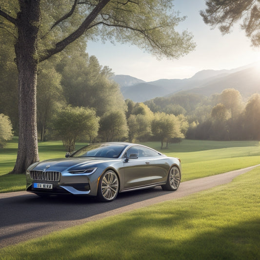
<svg viewBox="0 0 260 260"><path fill-rule="evenodd" d="M116 199L119 191L119 179L117 174L108 170L102 174L99 181L98 198L103 202L110 202Z"/></svg>

